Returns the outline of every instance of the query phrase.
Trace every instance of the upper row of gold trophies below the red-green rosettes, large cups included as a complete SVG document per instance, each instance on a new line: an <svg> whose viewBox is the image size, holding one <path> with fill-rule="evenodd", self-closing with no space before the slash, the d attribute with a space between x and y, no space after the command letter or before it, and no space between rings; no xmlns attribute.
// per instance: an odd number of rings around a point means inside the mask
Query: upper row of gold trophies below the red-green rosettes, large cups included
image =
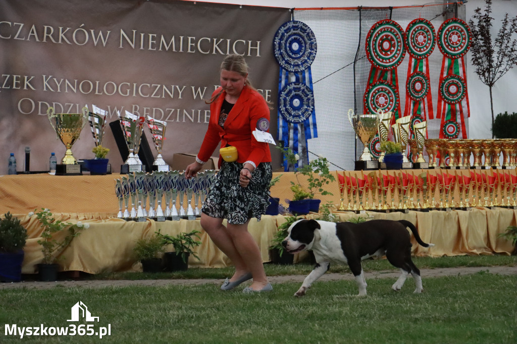
<svg viewBox="0 0 517 344"><path fill-rule="evenodd" d="M402 168L513 169L517 166L517 139L427 138L427 121L414 123L411 128L411 119L411 116L405 116L391 124L393 120L391 112L379 111L377 114L359 115L354 114L352 109L348 110L348 120L364 145L355 169L383 167L384 152L381 153L378 161L373 160L370 154L369 147L377 134L379 144L387 141L390 136L394 142L401 143L404 159ZM412 132L415 138L410 138ZM412 161L408 160L405 153L408 145L412 153ZM428 154L429 162L424 160L424 150ZM470 159L471 157L473 159Z"/></svg>

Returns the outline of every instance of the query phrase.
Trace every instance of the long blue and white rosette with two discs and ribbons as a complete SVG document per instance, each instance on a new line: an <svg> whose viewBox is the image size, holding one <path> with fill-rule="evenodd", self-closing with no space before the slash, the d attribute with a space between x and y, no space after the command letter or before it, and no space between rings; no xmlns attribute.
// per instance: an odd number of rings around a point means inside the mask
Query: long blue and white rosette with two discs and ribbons
<svg viewBox="0 0 517 344"><path fill-rule="evenodd" d="M284 148L300 156L298 166L301 167L309 163L307 140L317 137L311 75L316 37L307 24L289 21L277 30L273 50L280 65L278 139L284 142ZM284 170L288 167L284 161Z"/></svg>

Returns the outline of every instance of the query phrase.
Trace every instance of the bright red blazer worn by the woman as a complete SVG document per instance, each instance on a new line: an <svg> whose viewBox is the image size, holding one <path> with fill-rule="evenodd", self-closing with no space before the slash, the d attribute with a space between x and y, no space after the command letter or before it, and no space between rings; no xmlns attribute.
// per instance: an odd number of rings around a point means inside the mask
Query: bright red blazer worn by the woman
<svg viewBox="0 0 517 344"><path fill-rule="evenodd" d="M220 91L219 87L212 93L212 97ZM224 122L223 129L219 126L219 115L225 96L226 92L222 91L221 96L210 104L208 130L197 158L208 161L221 142L220 147L229 145L237 148L237 162L239 163L253 161L255 166L258 166L261 162L270 162L269 144L257 142L252 134L252 131L256 130L258 119L264 117L269 120L269 108L262 95L250 87L244 86L239 99ZM222 158L219 154L219 167L221 163Z"/></svg>

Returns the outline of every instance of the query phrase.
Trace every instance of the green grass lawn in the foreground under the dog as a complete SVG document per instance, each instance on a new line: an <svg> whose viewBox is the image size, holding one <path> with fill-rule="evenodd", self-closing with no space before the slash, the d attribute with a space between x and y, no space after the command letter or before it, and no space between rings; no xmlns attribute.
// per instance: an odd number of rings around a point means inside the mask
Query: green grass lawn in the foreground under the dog
<svg viewBox="0 0 517 344"><path fill-rule="evenodd" d="M515 266L515 257L507 256L416 258L415 261L419 268L439 268L452 263ZM388 265L382 260L364 262L365 270L370 271L384 270ZM312 266L266 264L266 269L269 275L306 274ZM345 267L332 269L349 273ZM231 271L231 268L189 269L187 273L193 276L186 278L209 273L212 277L203 278L222 278ZM222 292L213 284L4 289L0 290L3 327L0 343L517 342L517 274L480 272L424 277L422 294L413 294L412 278L401 291L393 292L394 280L369 279L368 296L361 298L356 296L355 282L349 280L316 282L303 298L293 297L299 283L275 284L275 290L270 293L252 295L241 293L244 286ZM99 322L67 322L71 319L71 307L79 301L92 316L99 317ZM74 325L76 329L83 324L83 331L93 324L92 333L100 327L110 327L111 335L102 339L86 335L20 339L19 335L6 335L5 324L11 330L13 324L48 328Z"/></svg>

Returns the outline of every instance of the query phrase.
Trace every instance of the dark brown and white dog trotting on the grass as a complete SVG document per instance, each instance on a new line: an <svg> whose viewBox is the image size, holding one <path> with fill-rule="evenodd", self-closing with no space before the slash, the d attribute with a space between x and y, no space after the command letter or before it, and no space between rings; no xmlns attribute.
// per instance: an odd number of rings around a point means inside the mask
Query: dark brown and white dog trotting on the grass
<svg viewBox="0 0 517 344"><path fill-rule="evenodd" d="M323 276L330 267L330 262L347 263L355 276L359 295L366 295L366 280L361 267L361 260L373 256L383 257L402 272L397 282L391 287L398 291L404 285L409 274L415 280L415 293L422 292L420 270L411 260L410 234L423 247L434 246L420 239L416 227L409 221L371 220L359 224L351 222L325 222L316 220L298 220L287 229L287 237L282 242L288 253L312 250L316 266L303 280L295 296L305 295L312 283Z"/></svg>

